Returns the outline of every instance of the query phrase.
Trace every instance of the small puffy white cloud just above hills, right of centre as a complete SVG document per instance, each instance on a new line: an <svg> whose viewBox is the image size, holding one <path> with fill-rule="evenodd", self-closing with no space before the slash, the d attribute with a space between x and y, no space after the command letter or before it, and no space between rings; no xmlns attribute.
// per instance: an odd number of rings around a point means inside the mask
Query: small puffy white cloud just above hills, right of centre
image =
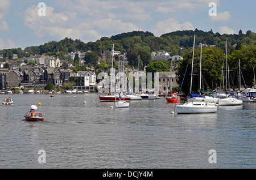
<svg viewBox="0 0 256 180"><path fill-rule="evenodd" d="M154 35L161 36L164 33L182 30L193 30L193 25L189 22L179 23L174 18L169 18L165 21L156 23L154 27Z"/></svg>

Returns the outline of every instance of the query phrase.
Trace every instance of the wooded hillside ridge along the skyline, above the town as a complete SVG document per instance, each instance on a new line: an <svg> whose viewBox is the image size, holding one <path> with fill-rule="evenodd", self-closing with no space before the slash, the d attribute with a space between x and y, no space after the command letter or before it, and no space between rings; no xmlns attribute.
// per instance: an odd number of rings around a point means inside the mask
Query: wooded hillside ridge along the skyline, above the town
<svg viewBox="0 0 256 180"><path fill-rule="evenodd" d="M18 54L18 58L28 57L30 54L47 54L58 55L64 59L65 53L86 52L88 50L103 53L105 50L112 50L115 44L115 50L122 53L133 50L136 46L142 46L148 52L166 51L171 55L183 55L187 53L193 46L193 35L196 34L196 44L200 42L203 44L216 45L218 48L224 48L225 40L228 41L229 54L235 49L233 45L240 43L241 46L256 45L256 34L247 31L245 34L238 32L238 35L220 35L220 33L213 33L212 30L204 32L198 29L195 31L176 31L166 33L160 37L155 37L153 33L133 31L128 33L121 33L112 37L102 37L95 42L82 42L81 40L72 40L71 38L64 38L59 42L50 41L44 45L30 46L24 50L20 48L3 49L0 54L5 58L13 58L13 54Z"/></svg>

